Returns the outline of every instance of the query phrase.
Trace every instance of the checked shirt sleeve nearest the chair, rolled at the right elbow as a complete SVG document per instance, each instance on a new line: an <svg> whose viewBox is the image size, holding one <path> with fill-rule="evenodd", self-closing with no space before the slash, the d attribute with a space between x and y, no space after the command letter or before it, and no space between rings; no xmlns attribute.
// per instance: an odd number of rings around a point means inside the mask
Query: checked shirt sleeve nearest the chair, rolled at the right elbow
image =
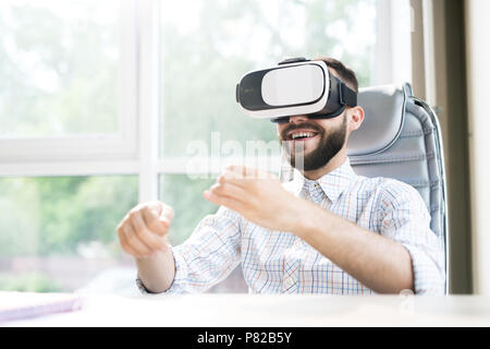
<svg viewBox="0 0 490 349"><path fill-rule="evenodd" d="M426 203L413 186L388 181L380 194L380 232L409 252L416 294L445 293L444 246L430 229Z"/></svg>

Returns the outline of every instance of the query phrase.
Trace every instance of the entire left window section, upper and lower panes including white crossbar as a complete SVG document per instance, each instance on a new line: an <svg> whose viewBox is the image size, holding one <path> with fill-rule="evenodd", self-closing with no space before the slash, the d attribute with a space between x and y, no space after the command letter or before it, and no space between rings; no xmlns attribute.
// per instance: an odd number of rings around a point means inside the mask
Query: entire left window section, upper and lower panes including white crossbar
<svg viewBox="0 0 490 349"><path fill-rule="evenodd" d="M0 3L0 289L73 291L132 266L114 227L138 201L134 13Z"/></svg>

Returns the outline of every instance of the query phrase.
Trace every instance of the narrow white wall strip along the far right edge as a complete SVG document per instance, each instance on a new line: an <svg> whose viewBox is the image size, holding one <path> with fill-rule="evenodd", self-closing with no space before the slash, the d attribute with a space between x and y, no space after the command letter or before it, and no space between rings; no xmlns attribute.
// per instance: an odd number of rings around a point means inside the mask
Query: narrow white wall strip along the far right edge
<svg viewBox="0 0 490 349"><path fill-rule="evenodd" d="M490 294L490 1L465 2L474 291Z"/></svg>

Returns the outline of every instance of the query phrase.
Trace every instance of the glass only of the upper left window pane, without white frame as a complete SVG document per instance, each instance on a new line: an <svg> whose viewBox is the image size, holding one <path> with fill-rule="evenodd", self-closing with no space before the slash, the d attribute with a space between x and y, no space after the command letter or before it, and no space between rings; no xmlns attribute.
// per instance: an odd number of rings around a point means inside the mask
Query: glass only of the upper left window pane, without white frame
<svg viewBox="0 0 490 349"><path fill-rule="evenodd" d="M115 133L119 3L2 1L0 7L1 134Z"/></svg>

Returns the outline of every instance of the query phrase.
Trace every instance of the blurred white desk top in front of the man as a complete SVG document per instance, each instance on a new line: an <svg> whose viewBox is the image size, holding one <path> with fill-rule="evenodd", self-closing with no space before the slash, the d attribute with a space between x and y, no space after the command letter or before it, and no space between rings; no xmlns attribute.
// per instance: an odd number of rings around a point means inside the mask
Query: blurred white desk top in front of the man
<svg viewBox="0 0 490 349"><path fill-rule="evenodd" d="M490 326L490 298L89 296L81 311L3 326Z"/></svg>

